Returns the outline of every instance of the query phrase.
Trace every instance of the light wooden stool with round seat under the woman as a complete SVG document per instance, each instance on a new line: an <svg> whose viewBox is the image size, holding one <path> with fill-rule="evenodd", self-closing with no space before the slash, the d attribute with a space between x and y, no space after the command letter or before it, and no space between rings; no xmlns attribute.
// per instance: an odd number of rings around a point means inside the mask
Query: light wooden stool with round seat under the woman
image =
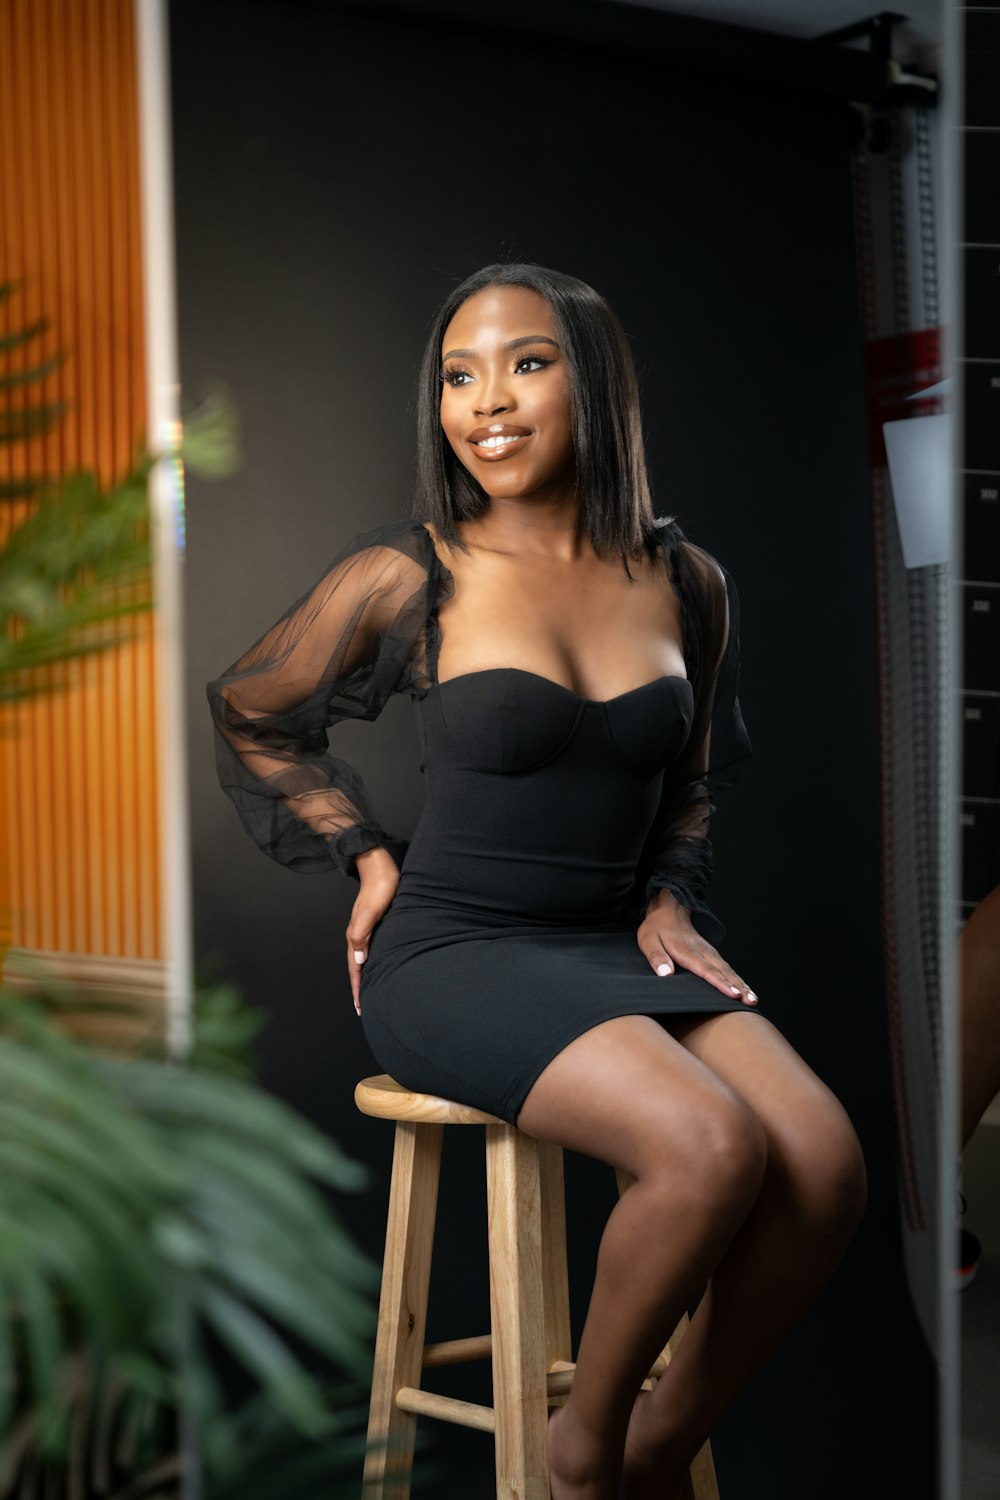
<svg viewBox="0 0 1000 1500"><path fill-rule="evenodd" d="M549 1407L562 1406L576 1368L570 1342L562 1146L496 1114L433 1094L412 1094L387 1072L361 1078L364 1114L396 1120L378 1308L364 1500L409 1500L418 1416L493 1432L498 1500L550 1500ZM445 1125L486 1126L490 1334L424 1342L441 1144ZM618 1192L636 1180L616 1168ZM687 1312L643 1389L663 1374ZM423 1390L421 1371L492 1359L493 1406ZM688 1500L718 1500L711 1444L691 1464Z"/></svg>

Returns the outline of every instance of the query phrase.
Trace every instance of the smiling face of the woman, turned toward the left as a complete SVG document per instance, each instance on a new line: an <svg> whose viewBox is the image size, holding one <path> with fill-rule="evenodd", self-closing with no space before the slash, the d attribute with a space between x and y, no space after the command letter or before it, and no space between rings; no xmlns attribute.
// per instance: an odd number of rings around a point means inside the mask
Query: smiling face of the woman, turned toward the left
<svg viewBox="0 0 1000 1500"><path fill-rule="evenodd" d="M570 378L546 298L487 286L454 314L441 352L441 426L486 494L571 486Z"/></svg>

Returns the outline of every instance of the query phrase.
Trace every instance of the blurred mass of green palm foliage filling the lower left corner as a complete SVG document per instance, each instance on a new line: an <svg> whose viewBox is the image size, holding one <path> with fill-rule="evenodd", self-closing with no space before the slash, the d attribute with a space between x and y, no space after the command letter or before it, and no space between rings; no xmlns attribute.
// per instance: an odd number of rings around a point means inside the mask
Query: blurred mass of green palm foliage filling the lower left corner
<svg viewBox="0 0 1000 1500"><path fill-rule="evenodd" d="M0 987L0 1496L39 1466L67 1494L177 1479L178 1419L207 1496L357 1496L379 1268L333 1194L369 1168L247 1076L262 1017L232 986L196 987L184 1064L69 1030L141 1029L139 1002L31 986ZM213 1346L256 1388L235 1412Z"/></svg>

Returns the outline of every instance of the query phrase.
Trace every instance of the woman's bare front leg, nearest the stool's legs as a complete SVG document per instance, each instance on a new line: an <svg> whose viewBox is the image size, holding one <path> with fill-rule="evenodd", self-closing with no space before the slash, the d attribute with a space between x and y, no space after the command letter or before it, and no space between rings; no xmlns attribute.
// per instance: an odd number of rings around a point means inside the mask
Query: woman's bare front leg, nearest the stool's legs
<svg viewBox="0 0 1000 1500"><path fill-rule="evenodd" d="M574 1038L517 1125L637 1179L609 1215L573 1390L550 1420L553 1500L613 1500L636 1392L757 1198L763 1126L649 1016Z"/></svg>

